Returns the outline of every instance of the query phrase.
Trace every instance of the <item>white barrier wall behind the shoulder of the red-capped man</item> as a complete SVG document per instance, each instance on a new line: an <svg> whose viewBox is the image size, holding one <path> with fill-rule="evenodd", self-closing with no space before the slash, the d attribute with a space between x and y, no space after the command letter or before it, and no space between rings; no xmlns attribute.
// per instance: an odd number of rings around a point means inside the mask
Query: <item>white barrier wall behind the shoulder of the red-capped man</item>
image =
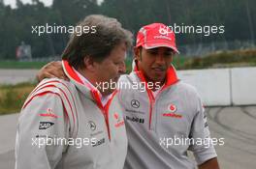
<svg viewBox="0 0 256 169"><path fill-rule="evenodd" d="M178 70L208 106L256 104L256 68Z"/></svg>

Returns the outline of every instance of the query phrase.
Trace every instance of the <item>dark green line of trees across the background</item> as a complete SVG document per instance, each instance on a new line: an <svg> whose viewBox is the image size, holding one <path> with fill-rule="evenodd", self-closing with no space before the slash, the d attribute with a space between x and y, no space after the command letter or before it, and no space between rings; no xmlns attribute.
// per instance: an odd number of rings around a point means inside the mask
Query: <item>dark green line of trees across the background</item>
<svg viewBox="0 0 256 169"><path fill-rule="evenodd" d="M254 42L256 34L255 0L53 0L50 7L39 0L16 0L16 9L0 0L0 59L15 59L21 42L31 45L33 57L60 55L69 34L39 36L32 26L76 25L88 14L115 17L134 34L145 24L163 22L176 28L178 45Z"/></svg>

